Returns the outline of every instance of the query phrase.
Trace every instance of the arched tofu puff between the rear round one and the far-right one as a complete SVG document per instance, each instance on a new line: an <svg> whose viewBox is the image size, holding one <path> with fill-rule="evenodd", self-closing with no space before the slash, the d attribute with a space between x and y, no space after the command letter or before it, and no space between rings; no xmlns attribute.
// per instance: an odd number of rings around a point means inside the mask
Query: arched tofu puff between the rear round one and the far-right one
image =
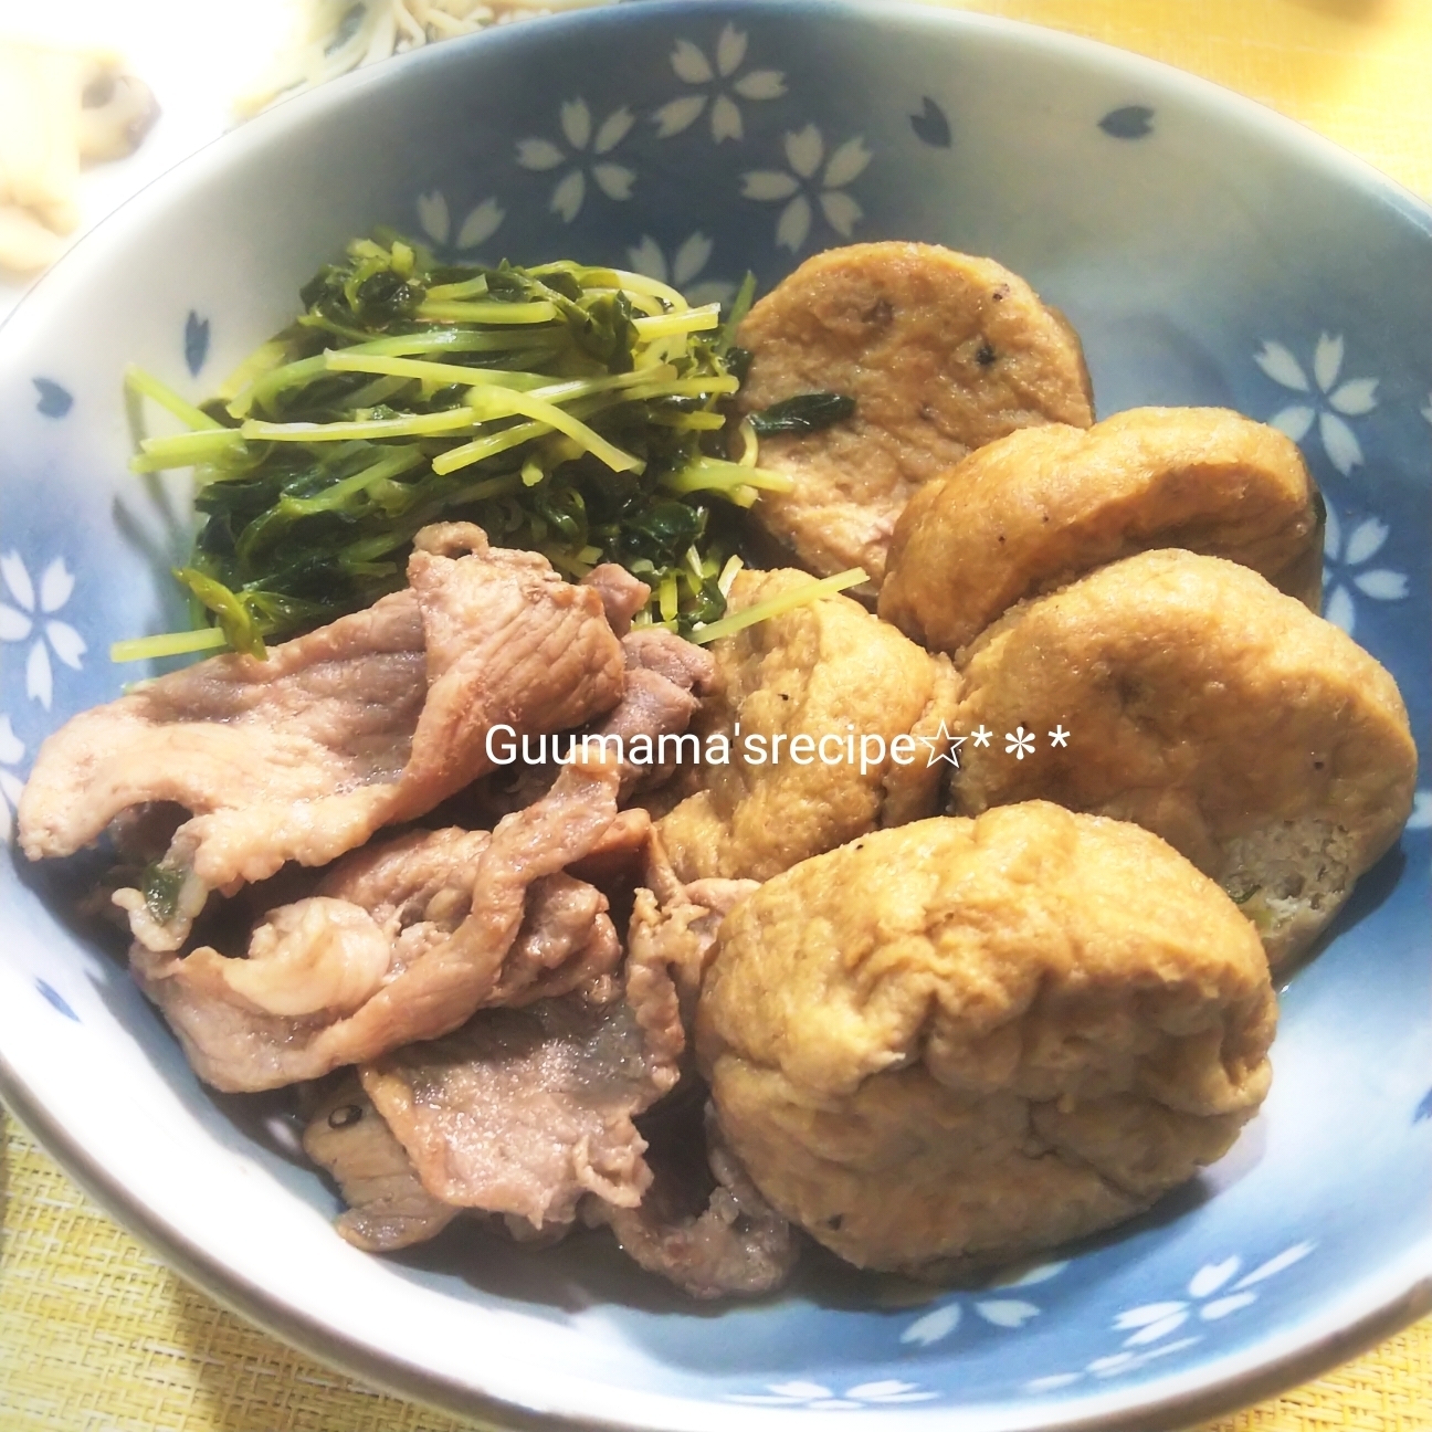
<svg viewBox="0 0 1432 1432"><path fill-rule="evenodd" d="M955 652L1015 601L1150 547L1227 557L1317 611L1322 511L1297 444L1223 408L1022 428L915 493L881 616Z"/></svg>

